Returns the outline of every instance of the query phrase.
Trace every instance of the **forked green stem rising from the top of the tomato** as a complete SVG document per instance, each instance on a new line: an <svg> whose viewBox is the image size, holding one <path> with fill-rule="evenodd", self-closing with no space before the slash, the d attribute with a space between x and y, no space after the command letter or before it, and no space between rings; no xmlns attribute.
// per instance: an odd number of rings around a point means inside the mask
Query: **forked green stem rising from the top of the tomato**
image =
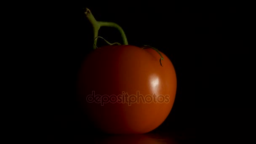
<svg viewBox="0 0 256 144"><path fill-rule="evenodd" d="M125 36L125 32L123 31L123 29L118 24L113 23L113 22L106 22L106 21L96 21L93 14L91 13L91 11L88 8L86 8L85 15L93 26L93 35L94 35L94 40L95 40L94 41L95 44L93 45L93 49L96 49L96 43L97 43L96 37L98 37L100 27L115 27L121 33L121 37L123 39L123 44L128 45L128 41L127 41L127 38Z"/></svg>

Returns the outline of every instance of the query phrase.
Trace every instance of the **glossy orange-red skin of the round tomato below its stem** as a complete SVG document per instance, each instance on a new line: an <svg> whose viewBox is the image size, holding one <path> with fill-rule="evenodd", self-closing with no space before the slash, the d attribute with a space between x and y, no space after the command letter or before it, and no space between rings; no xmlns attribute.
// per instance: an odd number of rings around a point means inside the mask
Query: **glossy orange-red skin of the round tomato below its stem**
<svg viewBox="0 0 256 144"><path fill-rule="evenodd" d="M160 52L161 53L161 52ZM173 107L176 95L176 73L165 54L152 48L133 45L109 45L97 48L82 64L78 92L88 116L106 133L147 133L157 128ZM88 95L139 94L169 96L163 103L89 103Z"/></svg>

